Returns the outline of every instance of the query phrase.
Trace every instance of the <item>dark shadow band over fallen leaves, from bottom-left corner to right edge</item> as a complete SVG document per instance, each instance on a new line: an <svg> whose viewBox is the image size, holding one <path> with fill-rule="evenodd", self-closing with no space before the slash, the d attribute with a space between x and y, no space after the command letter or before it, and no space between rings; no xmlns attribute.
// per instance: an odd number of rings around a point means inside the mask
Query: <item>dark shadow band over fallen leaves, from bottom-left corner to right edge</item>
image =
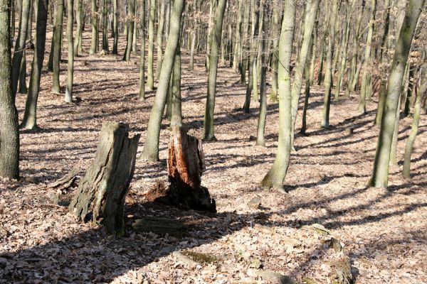
<svg viewBox="0 0 427 284"><path fill-rule="evenodd" d="M346 209L330 209L322 217L299 220L295 225L292 213L310 207L328 207L330 202L357 197L369 190L367 187L346 192L334 197L299 202L288 202L284 209L278 211L253 212L237 214L236 212L220 212L218 214L201 214L194 211L179 211L172 207L164 207L152 202L135 202L127 204L125 216L127 231L122 239L107 236L100 228L80 231L78 234L56 239L47 244L38 244L28 249L6 252L0 255L0 283L88 283L110 282L117 276L128 271L142 268L149 263L168 256L173 251L191 249L202 244L221 239L248 226L262 224L272 228L278 226L301 226L321 223L327 229L339 229L379 222L383 219L412 212L427 207L421 200L393 212L379 214L352 214L364 212L371 206L394 195L394 191L386 191L374 200L364 200L361 204ZM65 207L55 207L58 214L66 212ZM288 216L288 221L277 222L269 219L273 214ZM347 216L348 215L348 216ZM130 229L134 219L141 217L168 217L179 219L184 223L182 236L158 236L152 233L135 233Z"/></svg>

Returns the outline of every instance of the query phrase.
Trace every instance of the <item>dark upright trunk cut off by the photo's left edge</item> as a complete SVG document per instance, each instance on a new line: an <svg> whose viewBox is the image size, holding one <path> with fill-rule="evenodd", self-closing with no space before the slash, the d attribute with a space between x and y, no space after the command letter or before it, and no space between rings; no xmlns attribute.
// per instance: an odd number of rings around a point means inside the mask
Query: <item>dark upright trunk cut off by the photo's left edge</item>
<svg viewBox="0 0 427 284"><path fill-rule="evenodd" d="M19 178L19 129L12 91L9 0L0 0L0 177Z"/></svg>

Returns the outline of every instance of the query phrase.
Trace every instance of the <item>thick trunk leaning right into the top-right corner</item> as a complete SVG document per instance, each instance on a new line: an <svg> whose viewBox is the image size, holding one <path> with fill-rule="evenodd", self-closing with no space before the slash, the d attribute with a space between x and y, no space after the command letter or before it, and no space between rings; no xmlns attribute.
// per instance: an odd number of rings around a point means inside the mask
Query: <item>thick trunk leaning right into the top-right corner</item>
<svg viewBox="0 0 427 284"><path fill-rule="evenodd" d="M389 183L389 163L391 143L393 140L396 111L399 105L401 86L404 78L406 62L413 35L416 30L418 18L426 0L409 0L403 26L400 29L399 38L396 41L393 63L387 84L385 107L381 118L378 143L369 185L374 187L387 187Z"/></svg>

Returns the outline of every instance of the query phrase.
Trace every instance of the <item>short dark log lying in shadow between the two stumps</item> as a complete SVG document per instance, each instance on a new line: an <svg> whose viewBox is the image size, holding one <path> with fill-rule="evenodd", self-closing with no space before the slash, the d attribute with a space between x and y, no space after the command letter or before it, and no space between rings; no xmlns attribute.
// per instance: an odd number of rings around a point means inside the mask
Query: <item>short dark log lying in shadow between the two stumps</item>
<svg viewBox="0 0 427 284"><path fill-rule="evenodd" d="M135 231L149 232L163 236L169 234L170 236L182 236L184 225L176 219L158 218L158 217L144 217L136 219L132 223L132 228Z"/></svg>

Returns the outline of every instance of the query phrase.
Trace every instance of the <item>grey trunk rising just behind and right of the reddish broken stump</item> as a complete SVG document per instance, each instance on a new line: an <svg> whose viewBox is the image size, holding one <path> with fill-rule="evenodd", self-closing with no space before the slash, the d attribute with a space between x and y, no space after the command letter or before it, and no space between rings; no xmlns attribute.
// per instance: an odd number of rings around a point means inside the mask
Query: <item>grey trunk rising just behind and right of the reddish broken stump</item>
<svg viewBox="0 0 427 284"><path fill-rule="evenodd" d="M216 95L216 73L218 71L218 49L221 46L221 31L226 0L214 0L214 26L212 28L211 52L209 55L208 96L204 116L204 141L216 141L214 134L214 109Z"/></svg>

